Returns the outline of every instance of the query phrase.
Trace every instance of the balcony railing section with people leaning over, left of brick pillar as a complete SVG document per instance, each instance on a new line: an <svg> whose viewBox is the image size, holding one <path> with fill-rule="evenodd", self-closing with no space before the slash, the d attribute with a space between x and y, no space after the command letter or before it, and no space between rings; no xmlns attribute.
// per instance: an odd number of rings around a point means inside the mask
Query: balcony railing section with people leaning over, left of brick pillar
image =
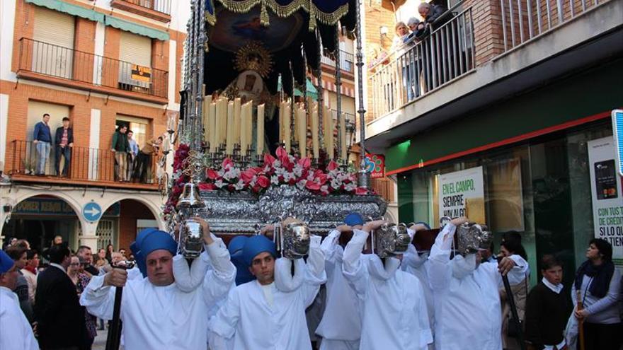
<svg viewBox="0 0 623 350"><path fill-rule="evenodd" d="M375 118L404 107L476 67L471 7L424 37L411 38L371 71Z"/></svg>

